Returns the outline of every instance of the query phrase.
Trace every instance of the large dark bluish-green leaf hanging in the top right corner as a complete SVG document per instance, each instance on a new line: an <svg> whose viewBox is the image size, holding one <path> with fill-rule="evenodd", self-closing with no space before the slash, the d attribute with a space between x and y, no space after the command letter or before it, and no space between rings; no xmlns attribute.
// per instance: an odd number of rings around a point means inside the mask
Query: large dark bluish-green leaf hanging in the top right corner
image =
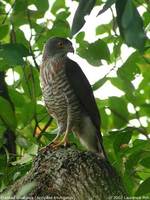
<svg viewBox="0 0 150 200"><path fill-rule="evenodd" d="M117 23L120 33L128 46L143 51L146 34L143 21L131 0L118 0L116 2Z"/></svg>

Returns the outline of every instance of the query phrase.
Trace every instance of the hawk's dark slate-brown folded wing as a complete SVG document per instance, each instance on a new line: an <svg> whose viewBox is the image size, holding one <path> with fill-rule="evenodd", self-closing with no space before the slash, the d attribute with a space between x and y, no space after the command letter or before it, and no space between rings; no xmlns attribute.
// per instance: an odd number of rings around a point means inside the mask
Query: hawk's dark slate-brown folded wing
<svg viewBox="0 0 150 200"><path fill-rule="evenodd" d="M70 59L66 60L65 70L68 81L81 105L90 116L96 129L100 131L100 114L88 79L84 75L80 66Z"/></svg>

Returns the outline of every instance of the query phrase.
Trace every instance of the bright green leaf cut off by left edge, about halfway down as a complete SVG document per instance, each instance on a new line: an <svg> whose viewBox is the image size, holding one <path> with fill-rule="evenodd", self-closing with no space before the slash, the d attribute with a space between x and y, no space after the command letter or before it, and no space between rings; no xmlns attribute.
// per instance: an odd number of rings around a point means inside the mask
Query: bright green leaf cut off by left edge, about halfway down
<svg viewBox="0 0 150 200"><path fill-rule="evenodd" d="M0 96L0 118L4 125L8 126L11 130L15 130L17 126L15 113L10 103Z"/></svg>

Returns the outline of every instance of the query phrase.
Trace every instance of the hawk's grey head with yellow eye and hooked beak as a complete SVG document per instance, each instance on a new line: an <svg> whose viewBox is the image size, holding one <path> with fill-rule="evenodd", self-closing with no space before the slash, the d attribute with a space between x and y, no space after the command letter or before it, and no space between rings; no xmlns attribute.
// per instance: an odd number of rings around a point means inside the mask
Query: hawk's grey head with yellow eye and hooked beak
<svg viewBox="0 0 150 200"><path fill-rule="evenodd" d="M45 46L43 52L43 59L53 57L64 57L69 52L74 52L72 43L61 37L50 38Z"/></svg>

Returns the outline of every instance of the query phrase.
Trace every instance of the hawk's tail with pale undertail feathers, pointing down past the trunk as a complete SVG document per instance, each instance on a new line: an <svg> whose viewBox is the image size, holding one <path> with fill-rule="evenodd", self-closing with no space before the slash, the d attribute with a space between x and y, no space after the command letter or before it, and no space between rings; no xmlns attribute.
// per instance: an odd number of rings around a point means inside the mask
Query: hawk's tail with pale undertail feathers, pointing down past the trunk
<svg viewBox="0 0 150 200"><path fill-rule="evenodd" d="M102 159L107 160L107 156L102 144L101 133L96 129L90 117L84 116L81 128L78 132L80 142L90 151L96 152Z"/></svg>

